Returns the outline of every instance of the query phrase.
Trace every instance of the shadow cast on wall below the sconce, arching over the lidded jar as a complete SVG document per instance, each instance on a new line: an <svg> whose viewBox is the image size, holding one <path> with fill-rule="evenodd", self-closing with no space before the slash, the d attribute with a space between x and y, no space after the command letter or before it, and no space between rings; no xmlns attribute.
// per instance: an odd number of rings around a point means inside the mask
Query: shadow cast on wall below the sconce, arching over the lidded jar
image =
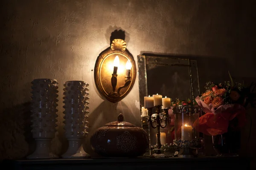
<svg viewBox="0 0 256 170"><path fill-rule="evenodd" d="M124 115L124 121L125 122L131 122L131 120L134 120L135 117L132 117L131 110L128 108L128 106L120 101L116 103L111 103L105 99L93 112L90 113L88 118L88 135L84 139L84 150L86 153L89 153L91 156L99 156L97 153L93 152L91 146L90 146L90 137L92 136L93 132L99 128L104 126L105 124L113 121L117 121L117 116L119 113L117 111L122 111ZM121 109L119 109L119 105L121 105ZM113 114L116 113L116 114Z"/></svg>

